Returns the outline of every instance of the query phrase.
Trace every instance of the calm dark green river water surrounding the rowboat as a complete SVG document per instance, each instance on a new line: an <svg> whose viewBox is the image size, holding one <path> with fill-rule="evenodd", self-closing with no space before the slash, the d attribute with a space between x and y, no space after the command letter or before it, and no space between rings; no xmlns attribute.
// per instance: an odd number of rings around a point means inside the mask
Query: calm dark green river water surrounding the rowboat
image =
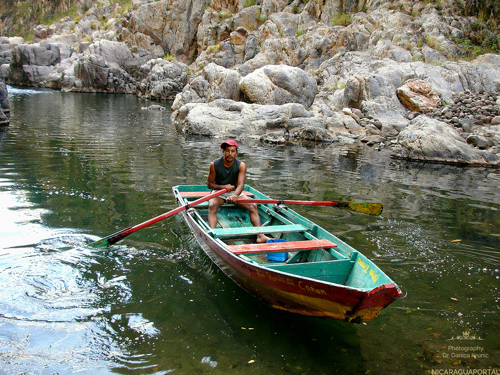
<svg viewBox="0 0 500 375"><path fill-rule="evenodd" d="M425 374L500 366L497 170L409 163L364 147L238 139L247 182L273 198L384 206L376 217L293 207L407 290L366 324L310 318L240 289L180 215L110 251L74 249L173 208L171 187L205 183L220 139L183 134L169 111L143 109L156 102L133 95L8 89L11 124L0 129L0 373Z"/></svg>

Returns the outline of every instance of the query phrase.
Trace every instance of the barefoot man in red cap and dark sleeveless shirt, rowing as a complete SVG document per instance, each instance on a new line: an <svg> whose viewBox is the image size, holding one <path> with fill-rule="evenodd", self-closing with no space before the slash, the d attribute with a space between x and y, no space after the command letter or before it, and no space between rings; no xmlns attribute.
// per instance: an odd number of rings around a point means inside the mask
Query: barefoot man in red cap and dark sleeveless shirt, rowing
<svg viewBox="0 0 500 375"><path fill-rule="evenodd" d="M246 208L250 214L250 222L253 226L260 226L260 217L255 203L238 203L238 198L248 199L243 194L243 186L246 178L246 164L238 160L238 143L233 139L227 139L220 144L222 157L213 160L208 170L206 186L211 190L226 188L228 192L211 198L208 201L208 225L215 228L217 225L217 209L225 202L235 203ZM232 193L230 193L232 191ZM257 243L266 242L269 239L265 234L257 234Z"/></svg>

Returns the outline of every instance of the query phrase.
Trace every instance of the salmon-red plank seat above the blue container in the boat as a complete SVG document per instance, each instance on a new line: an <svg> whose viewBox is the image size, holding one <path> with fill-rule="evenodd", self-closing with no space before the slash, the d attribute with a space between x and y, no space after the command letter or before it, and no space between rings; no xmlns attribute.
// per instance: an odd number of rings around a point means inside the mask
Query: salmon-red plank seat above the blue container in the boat
<svg viewBox="0 0 500 375"><path fill-rule="evenodd" d="M284 225L283 225L284 226ZM228 245L227 249L235 255L239 254L261 254L266 252L280 251L304 251L315 248L337 247L336 244L328 239L316 239L305 241L290 242L271 242L271 243L244 243L240 245Z"/></svg>

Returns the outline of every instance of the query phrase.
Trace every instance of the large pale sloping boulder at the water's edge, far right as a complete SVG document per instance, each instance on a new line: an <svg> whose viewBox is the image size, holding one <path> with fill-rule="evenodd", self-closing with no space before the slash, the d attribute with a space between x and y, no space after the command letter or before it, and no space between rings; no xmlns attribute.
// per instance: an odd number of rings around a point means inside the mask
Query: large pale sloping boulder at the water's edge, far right
<svg viewBox="0 0 500 375"><path fill-rule="evenodd" d="M442 121L417 116L399 132L391 156L403 159L500 166L500 155L474 148Z"/></svg>

